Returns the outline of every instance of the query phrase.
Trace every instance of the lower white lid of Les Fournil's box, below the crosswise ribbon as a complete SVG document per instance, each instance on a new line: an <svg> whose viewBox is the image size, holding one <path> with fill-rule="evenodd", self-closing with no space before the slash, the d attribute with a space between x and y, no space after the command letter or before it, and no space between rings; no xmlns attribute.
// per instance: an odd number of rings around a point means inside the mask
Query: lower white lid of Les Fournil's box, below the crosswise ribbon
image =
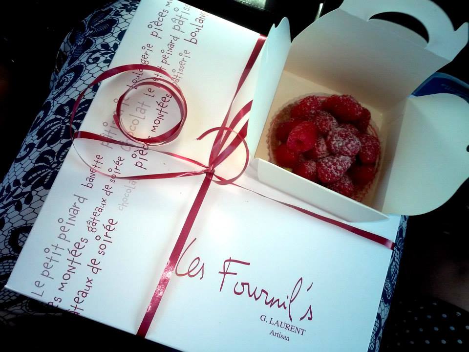
<svg viewBox="0 0 469 352"><path fill-rule="evenodd" d="M43 302L60 298L60 308L73 309L78 290L85 288L88 277L92 278L93 287L79 306L84 309L82 315L135 333L201 177L158 183L138 181L135 185L118 181L115 187L135 187L131 191L132 205L121 212L120 199L109 197L112 201L102 219L112 217L118 224L112 234L113 243L108 244L104 256L99 256L100 242L89 236L84 220L100 198L91 192L83 193L79 184L86 170L73 151L65 162L7 288ZM171 167L171 160L167 162ZM95 182L102 187L107 178L98 176ZM89 198L82 205L77 227L66 233L71 242L65 243L58 238L61 223L57 219L67 216L66 205L73 200L69 196L72 194ZM363 223L361 227L394 238L398 224L399 217L394 216L378 225ZM98 234L103 236L103 231L98 230ZM70 269L65 256L71 257L64 252L67 249L57 250L52 245L73 249L73 243L81 238L89 240L76 258L82 264L75 264L72 279L64 280L63 275ZM178 270L184 271L181 268L187 269L192 259L200 257L205 265L204 277L173 277L149 339L183 351L235 351L240 334L245 336L246 348L271 351L312 347L342 351L344 344L356 351L367 348L390 260L389 249L251 192L216 185L204 201L186 247L194 239ZM43 263L47 262L46 248L64 255L54 257L59 263L53 263L49 270L53 280L41 276ZM85 266L92 258L100 260L102 270L98 274ZM250 265L232 264L230 270L238 276L227 276L220 292L222 275L218 272L229 258ZM233 292L236 282L249 282L252 289L264 288L284 299L300 277L304 284L292 306L293 323L285 309L268 308L247 293L238 296ZM45 286L38 288L36 282ZM60 291L62 282L68 284ZM313 288L305 291L312 283ZM299 317L309 305L312 320L300 322ZM285 331L290 341L269 336L272 330L281 330L261 321L262 315L269 321L273 318L274 322L278 319L295 324L306 332L301 336Z"/></svg>

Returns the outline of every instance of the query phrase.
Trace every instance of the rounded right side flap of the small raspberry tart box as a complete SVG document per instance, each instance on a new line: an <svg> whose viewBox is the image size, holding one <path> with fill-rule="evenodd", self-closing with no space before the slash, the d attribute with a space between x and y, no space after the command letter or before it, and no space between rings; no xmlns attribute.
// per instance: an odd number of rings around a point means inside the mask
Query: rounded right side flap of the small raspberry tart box
<svg viewBox="0 0 469 352"><path fill-rule="evenodd" d="M445 203L469 176L469 104L446 93L410 97L398 120L389 126L395 142L388 141L384 159L392 161L374 207L423 214Z"/></svg>

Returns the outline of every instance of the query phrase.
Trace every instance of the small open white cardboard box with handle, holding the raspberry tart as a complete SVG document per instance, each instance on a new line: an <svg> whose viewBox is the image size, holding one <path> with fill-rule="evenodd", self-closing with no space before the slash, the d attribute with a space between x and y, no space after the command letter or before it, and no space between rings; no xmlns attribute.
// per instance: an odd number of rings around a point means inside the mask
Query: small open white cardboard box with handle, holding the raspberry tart
<svg viewBox="0 0 469 352"><path fill-rule="evenodd" d="M426 27L429 42L373 15L402 12ZM417 215L447 201L469 176L469 106L451 94L409 97L468 41L430 1L349 1L320 17L289 43L288 23L268 37L272 62L262 63L248 143L259 138L257 179L347 221ZM280 63L286 60L277 85ZM272 106L265 96L275 88ZM371 111L382 144L379 174L363 202L296 176L270 162L267 133L275 113L306 94L350 94ZM258 98L260 97L260 98ZM264 115L268 113L264 126Z"/></svg>

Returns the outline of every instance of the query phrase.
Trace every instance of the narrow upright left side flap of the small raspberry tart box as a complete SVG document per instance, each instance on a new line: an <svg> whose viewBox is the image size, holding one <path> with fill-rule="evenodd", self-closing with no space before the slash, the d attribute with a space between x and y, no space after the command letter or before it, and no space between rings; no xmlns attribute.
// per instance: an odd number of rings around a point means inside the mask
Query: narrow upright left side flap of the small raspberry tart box
<svg viewBox="0 0 469 352"><path fill-rule="evenodd" d="M270 106L274 100L290 44L290 24L287 18L283 18L277 27L272 26L263 47L246 137L252 156L256 153Z"/></svg>

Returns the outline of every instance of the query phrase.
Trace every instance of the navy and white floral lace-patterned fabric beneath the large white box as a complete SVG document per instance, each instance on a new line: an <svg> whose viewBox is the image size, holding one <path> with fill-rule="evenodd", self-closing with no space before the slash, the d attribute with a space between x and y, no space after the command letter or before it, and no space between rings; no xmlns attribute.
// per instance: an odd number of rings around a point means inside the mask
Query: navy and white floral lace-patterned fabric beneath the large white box
<svg viewBox="0 0 469 352"><path fill-rule="evenodd" d="M14 325L16 318L27 314L61 314L3 286L70 148L68 122L75 100L109 66L137 5L136 0L116 1L95 11L67 35L57 55L49 96L0 185L0 329L2 324ZM73 122L76 129L91 100L92 96L81 103ZM399 227L369 351L379 349L396 284L406 220L403 217Z"/></svg>

